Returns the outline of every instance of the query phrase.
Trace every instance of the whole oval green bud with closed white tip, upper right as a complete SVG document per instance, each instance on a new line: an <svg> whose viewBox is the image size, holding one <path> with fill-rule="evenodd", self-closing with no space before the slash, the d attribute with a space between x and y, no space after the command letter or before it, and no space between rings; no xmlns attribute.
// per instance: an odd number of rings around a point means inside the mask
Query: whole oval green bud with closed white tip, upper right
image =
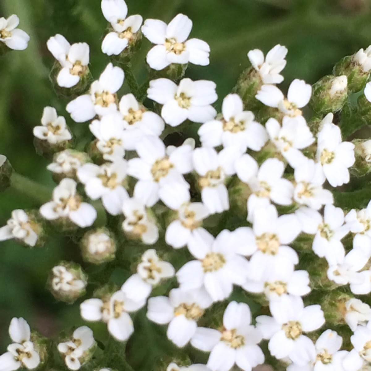
<svg viewBox="0 0 371 371"><path fill-rule="evenodd" d="M344 105L348 97L347 76L328 75L320 79L313 86L311 108L318 114L337 112Z"/></svg>

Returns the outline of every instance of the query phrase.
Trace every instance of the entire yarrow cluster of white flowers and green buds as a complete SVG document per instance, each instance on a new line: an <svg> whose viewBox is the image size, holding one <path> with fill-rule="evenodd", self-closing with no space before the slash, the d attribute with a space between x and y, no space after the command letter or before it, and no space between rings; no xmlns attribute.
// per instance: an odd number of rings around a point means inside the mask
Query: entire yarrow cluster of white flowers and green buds
<svg viewBox="0 0 371 371"><path fill-rule="evenodd" d="M70 118L46 106L33 132L58 185L39 210L14 210L0 240L39 246L52 230L78 241L84 269L52 267L50 292L70 304L82 298L82 319L104 322L113 342L145 336L150 348L149 332L166 334L174 346L158 341L155 371L369 370L371 308L358 295L371 292L371 201L344 206L342 191L371 171L371 144L345 140L351 122L334 113L355 93L357 112L371 114L370 47L313 86L294 79L287 94L277 86L286 47L250 50L251 66L218 113L216 83L184 77L210 53L188 39L187 16L143 22L127 16L124 0L102 0L101 9L109 23L101 48L112 59L99 77L89 72L88 44L59 34L47 42ZM14 17L0 19L0 40L22 49ZM154 46L138 87L131 58L142 35ZM124 82L131 92L122 95ZM71 120L91 132L85 151L73 148ZM190 124L198 137L184 137ZM4 164L0 156L0 183L10 178ZM118 369L134 370L135 346L96 342L96 328L64 333L53 352L70 370L111 370L101 368L110 352ZM13 318L9 332L0 370L45 363L24 319Z"/></svg>

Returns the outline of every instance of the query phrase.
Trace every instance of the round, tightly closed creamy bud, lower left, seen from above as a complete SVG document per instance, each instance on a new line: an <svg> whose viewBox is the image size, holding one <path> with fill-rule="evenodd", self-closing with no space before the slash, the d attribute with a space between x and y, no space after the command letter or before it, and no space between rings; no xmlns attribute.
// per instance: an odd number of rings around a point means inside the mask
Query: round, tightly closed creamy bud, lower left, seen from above
<svg viewBox="0 0 371 371"><path fill-rule="evenodd" d="M81 240L82 257L86 262L102 264L115 259L116 243L106 228L85 233Z"/></svg>

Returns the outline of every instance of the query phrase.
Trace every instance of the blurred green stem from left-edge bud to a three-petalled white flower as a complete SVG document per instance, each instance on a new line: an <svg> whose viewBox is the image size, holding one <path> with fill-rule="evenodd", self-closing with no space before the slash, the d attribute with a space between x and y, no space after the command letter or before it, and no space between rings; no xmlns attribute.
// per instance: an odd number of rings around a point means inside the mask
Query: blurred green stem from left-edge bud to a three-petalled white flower
<svg viewBox="0 0 371 371"><path fill-rule="evenodd" d="M17 173L12 174L10 187L39 203L46 203L52 198L52 191L49 188Z"/></svg>

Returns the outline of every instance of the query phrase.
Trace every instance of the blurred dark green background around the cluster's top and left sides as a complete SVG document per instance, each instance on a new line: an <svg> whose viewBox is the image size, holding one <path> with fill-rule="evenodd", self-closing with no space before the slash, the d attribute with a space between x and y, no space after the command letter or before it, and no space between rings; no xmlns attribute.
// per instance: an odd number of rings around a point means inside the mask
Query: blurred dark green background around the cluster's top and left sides
<svg viewBox="0 0 371 371"><path fill-rule="evenodd" d="M166 22L177 13L194 22L192 37L211 46L210 66L190 65L192 79L212 79L221 99L233 88L248 65L250 49L267 52L280 43L289 49L284 71L287 87L293 78L314 83L331 73L343 56L371 43L371 11L368 0L127 0L129 14ZM0 153L14 169L52 190L47 161L35 154L32 128L38 125L44 106L55 106L78 136L87 124L75 124L65 112L67 101L56 98L49 81L53 58L46 41L56 33L71 43L85 41L91 47L94 77L108 63L101 52L106 20L100 0L0 0L0 16L17 14L20 28L29 33L27 50L10 52L0 59ZM145 79L144 41L133 65L139 81ZM123 88L127 89L126 86ZM15 190L0 194L0 225L17 208L40 204ZM33 328L54 335L60 328L82 323L78 304L56 303L45 289L46 277L60 259L79 260L78 247L68 239L52 237L43 249L24 249L13 242L0 243L0 354L5 351L10 319L24 316Z"/></svg>

